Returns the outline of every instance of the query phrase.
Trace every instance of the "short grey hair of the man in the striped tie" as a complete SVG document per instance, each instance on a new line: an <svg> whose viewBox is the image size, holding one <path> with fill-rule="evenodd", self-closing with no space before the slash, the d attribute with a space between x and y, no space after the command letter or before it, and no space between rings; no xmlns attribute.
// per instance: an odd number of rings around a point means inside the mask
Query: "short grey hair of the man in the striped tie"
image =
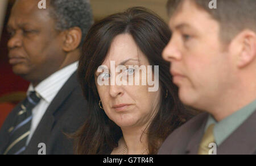
<svg viewBox="0 0 256 166"><path fill-rule="evenodd" d="M93 24L92 8L89 0L51 0L50 15L56 20L56 30L64 31L79 27L82 31L80 46Z"/></svg>

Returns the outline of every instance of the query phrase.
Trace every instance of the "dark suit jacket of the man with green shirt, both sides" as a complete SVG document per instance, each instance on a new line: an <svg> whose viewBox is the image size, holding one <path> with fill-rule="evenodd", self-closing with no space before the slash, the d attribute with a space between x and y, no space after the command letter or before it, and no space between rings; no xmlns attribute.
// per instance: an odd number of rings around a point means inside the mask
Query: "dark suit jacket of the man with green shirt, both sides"
<svg viewBox="0 0 256 166"><path fill-rule="evenodd" d="M159 155L195 155L204 135L207 113L192 118L177 128L160 147ZM256 111L241 124L220 146L217 155L256 154Z"/></svg>

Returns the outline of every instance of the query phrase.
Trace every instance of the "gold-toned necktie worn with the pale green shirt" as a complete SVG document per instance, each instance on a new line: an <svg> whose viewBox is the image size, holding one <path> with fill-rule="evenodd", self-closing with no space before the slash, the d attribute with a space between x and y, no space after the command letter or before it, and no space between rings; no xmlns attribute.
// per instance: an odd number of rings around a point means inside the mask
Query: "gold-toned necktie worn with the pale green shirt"
<svg viewBox="0 0 256 166"><path fill-rule="evenodd" d="M209 144L215 143L214 135L213 135L214 124L210 124L205 131L203 139L201 140L198 154L199 155L209 155Z"/></svg>

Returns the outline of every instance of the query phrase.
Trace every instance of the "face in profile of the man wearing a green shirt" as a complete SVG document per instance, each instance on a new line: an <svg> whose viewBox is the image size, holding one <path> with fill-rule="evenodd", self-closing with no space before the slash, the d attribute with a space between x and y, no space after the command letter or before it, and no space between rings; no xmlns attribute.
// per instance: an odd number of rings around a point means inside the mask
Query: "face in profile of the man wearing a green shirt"
<svg viewBox="0 0 256 166"><path fill-rule="evenodd" d="M193 2L184 1L169 26L172 38L163 57L171 62L181 101L202 110L225 102L222 96L234 80L232 56L220 42L218 22Z"/></svg>

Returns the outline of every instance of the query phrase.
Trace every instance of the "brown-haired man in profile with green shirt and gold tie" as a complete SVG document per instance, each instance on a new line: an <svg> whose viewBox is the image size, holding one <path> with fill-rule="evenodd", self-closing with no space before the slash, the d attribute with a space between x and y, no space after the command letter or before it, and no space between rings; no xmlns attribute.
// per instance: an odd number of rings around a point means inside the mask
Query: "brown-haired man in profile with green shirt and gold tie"
<svg viewBox="0 0 256 166"><path fill-rule="evenodd" d="M205 113L172 132L159 154L256 154L255 9L255 0L168 2L163 57L181 101Z"/></svg>

